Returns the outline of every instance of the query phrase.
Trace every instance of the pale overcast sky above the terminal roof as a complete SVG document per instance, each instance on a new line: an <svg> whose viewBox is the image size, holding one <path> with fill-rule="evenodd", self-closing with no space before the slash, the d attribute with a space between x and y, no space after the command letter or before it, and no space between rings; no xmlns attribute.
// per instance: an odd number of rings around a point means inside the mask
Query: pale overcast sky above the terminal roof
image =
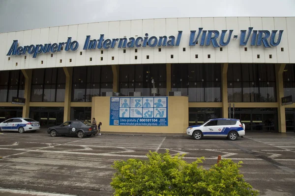
<svg viewBox="0 0 295 196"><path fill-rule="evenodd" d="M149 18L295 16L295 0L0 0L0 32Z"/></svg>

